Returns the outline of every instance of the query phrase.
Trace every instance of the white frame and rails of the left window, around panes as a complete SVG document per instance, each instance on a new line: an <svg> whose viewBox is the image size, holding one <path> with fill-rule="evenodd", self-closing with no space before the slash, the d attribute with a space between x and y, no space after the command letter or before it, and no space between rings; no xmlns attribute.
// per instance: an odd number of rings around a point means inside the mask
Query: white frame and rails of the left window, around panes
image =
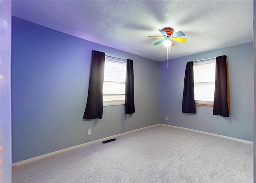
<svg viewBox="0 0 256 183"><path fill-rule="evenodd" d="M121 59L121 58L115 58L115 57L111 57L111 56L105 56L105 62L106 61L110 61L110 62L116 62L116 63L125 63L126 64L126 67L127 67L127 60L125 59ZM105 76L105 72L104 72L104 76ZM126 68L125 68L125 77L126 77ZM103 84L104 82L108 82L108 83L120 83L120 84L126 84L126 82L115 82L115 81L103 81ZM103 89L102 89L103 90ZM124 94L116 94L116 93L113 93L113 94L104 94L104 91L102 91L102 95L103 95L103 98L104 96L111 96L111 95L124 95L125 97L125 93ZM122 100L103 100L103 107L104 106L112 106L112 105L124 105L125 104L125 98L122 99Z"/></svg>

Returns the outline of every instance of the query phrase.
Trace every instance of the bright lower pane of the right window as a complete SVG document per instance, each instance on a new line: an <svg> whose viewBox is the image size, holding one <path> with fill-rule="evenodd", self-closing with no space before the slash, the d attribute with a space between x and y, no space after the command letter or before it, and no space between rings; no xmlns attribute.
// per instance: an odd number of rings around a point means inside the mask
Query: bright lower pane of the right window
<svg viewBox="0 0 256 183"><path fill-rule="evenodd" d="M194 83L195 100L213 101L215 82Z"/></svg>

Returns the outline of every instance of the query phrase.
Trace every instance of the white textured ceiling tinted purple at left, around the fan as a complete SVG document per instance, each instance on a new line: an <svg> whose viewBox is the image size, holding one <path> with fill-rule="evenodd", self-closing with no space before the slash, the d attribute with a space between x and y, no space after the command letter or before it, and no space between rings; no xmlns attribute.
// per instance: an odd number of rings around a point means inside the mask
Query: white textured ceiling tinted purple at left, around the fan
<svg viewBox="0 0 256 183"><path fill-rule="evenodd" d="M182 31L168 58L253 41L253 1L13 1L12 15L36 24L130 52L166 60L158 29Z"/></svg>

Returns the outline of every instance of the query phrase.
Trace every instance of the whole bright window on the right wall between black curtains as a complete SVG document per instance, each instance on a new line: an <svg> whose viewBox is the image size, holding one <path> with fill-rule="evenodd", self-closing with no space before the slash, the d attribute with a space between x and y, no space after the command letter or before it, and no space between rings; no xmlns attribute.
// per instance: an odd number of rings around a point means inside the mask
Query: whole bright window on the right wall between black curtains
<svg viewBox="0 0 256 183"><path fill-rule="evenodd" d="M194 62L194 94L195 103L213 105L215 89L216 59Z"/></svg>

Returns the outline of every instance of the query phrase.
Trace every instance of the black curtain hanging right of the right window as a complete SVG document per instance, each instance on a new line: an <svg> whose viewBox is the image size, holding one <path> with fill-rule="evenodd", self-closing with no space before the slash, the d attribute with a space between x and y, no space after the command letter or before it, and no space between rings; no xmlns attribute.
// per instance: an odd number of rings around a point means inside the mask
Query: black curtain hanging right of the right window
<svg viewBox="0 0 256 183"><path fill-rule="evenodd" d="M226 55L216 57L213 115L229 117Z"/></svg>

